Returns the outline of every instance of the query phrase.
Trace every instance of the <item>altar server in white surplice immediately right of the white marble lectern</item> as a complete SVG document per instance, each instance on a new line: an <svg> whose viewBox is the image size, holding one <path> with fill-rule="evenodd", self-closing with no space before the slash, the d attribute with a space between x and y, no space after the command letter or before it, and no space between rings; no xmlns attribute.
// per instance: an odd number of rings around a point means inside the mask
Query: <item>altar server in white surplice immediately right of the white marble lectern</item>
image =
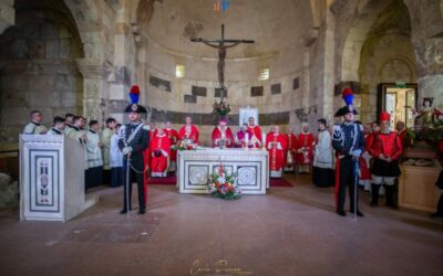
<svg viewBox="0 0 443 276"><path fill-rule="evenodd" d="M86 131L86 160L85 189L103 184L103 158L102 146L99 135L100 125L96 120L90 121Z"/></svg>

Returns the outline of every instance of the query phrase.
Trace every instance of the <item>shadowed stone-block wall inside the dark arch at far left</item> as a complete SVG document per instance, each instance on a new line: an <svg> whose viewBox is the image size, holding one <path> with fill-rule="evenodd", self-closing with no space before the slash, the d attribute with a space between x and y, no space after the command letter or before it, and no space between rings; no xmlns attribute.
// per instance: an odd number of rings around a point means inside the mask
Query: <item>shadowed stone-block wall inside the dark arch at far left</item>
<svg viewBox="0 0 443 276"><path fill-rule="evenodd" d="M81 114L83 47L75 22L61 1L16 1L16 25L0 36L0 140L17 145L31 109L50 127L53 116ZM6 119L8 117L8 119ZM13 119L10 119L13 118Z"/></svg>

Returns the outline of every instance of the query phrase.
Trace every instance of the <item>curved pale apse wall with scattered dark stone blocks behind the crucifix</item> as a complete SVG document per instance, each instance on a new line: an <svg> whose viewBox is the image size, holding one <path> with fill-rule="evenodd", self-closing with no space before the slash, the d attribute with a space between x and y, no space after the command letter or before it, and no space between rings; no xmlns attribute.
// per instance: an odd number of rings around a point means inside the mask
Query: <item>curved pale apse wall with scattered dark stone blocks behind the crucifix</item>
<svg viewBox="0 0 443 276"><path fill-rule="evenodd" d="M213 104L219 100L217 59L187 56L148 43L145 63L145 104L157 110L196 115L196 124L214 125ZM248 45L238 45L247 47ZM216 52L217 50L214 49ZM229 59L225 65L227 102L231 117L240 107L257 107L260 125L288 125L296 121L295 109L301 106L302 55L290 49L265 57ZM185 77L175 76L176 64L185 65ZM268 81L258 81L259 71L269 68ZM217 94L218 93L218 94ZM217 95L216 95L217 94ZM198 116L197 116L198 115ZM153 114L154 120L161 120ZM177 117L178 119L178 117ZM183 119L183 118L182 118ZM238 124L233 118L235 124Z"/></svg>

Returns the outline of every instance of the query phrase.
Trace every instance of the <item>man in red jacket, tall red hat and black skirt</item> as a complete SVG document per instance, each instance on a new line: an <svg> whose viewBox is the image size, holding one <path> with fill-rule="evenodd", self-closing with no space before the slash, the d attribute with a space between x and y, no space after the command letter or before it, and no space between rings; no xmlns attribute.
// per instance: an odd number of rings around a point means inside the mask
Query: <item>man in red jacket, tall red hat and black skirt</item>
<svg viewBox="0 0 443 276"><path fill-rule="evenodd" d="M401 138L398 132L389 129L391 115L382 112L380 114L380 132L375 134L368 145L368 150L374 162L372 172L372 201L371 206L379 203L379 189L384 184L387 193L387 205L396 208L398 188L395 178L400 176L399 158L403 151Z"/></svg>

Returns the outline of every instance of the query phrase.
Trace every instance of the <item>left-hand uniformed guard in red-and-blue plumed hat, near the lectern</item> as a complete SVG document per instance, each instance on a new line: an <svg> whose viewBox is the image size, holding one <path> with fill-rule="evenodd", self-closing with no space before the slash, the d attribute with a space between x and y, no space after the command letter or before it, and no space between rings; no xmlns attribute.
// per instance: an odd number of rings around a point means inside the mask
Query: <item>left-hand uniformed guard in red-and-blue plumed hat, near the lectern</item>
<svg viewBox="0 0 443 276"><path fill-rule="evenodd" d="M131 88L131 93L133 93L133 91L137 89L135 89L133 86L133 88ZM131 99L133 99L133 95L131 93L130 96ZM133 180L137 182L138 214L146 213L146 194L144 192L143 182L146 166L143 158L143 151L147 148L147 145L150 144L150 134L143 128L143 123L140 120L141 114L145 114L146 109L143 106L137 105L136 103L138 102L138 97L136 97L136 99L137 100L132 100L133 104L128 105L125 109L125 113L127 114L131 123L123 126L120 131L119 147L124 155L125 173L130 173L130 183L126 183L124 185L124 205L123 210L120 212L121 214L125 214L127 213L127 211L131 211ZM127 162L130 162L128 172Z"/></svg>

